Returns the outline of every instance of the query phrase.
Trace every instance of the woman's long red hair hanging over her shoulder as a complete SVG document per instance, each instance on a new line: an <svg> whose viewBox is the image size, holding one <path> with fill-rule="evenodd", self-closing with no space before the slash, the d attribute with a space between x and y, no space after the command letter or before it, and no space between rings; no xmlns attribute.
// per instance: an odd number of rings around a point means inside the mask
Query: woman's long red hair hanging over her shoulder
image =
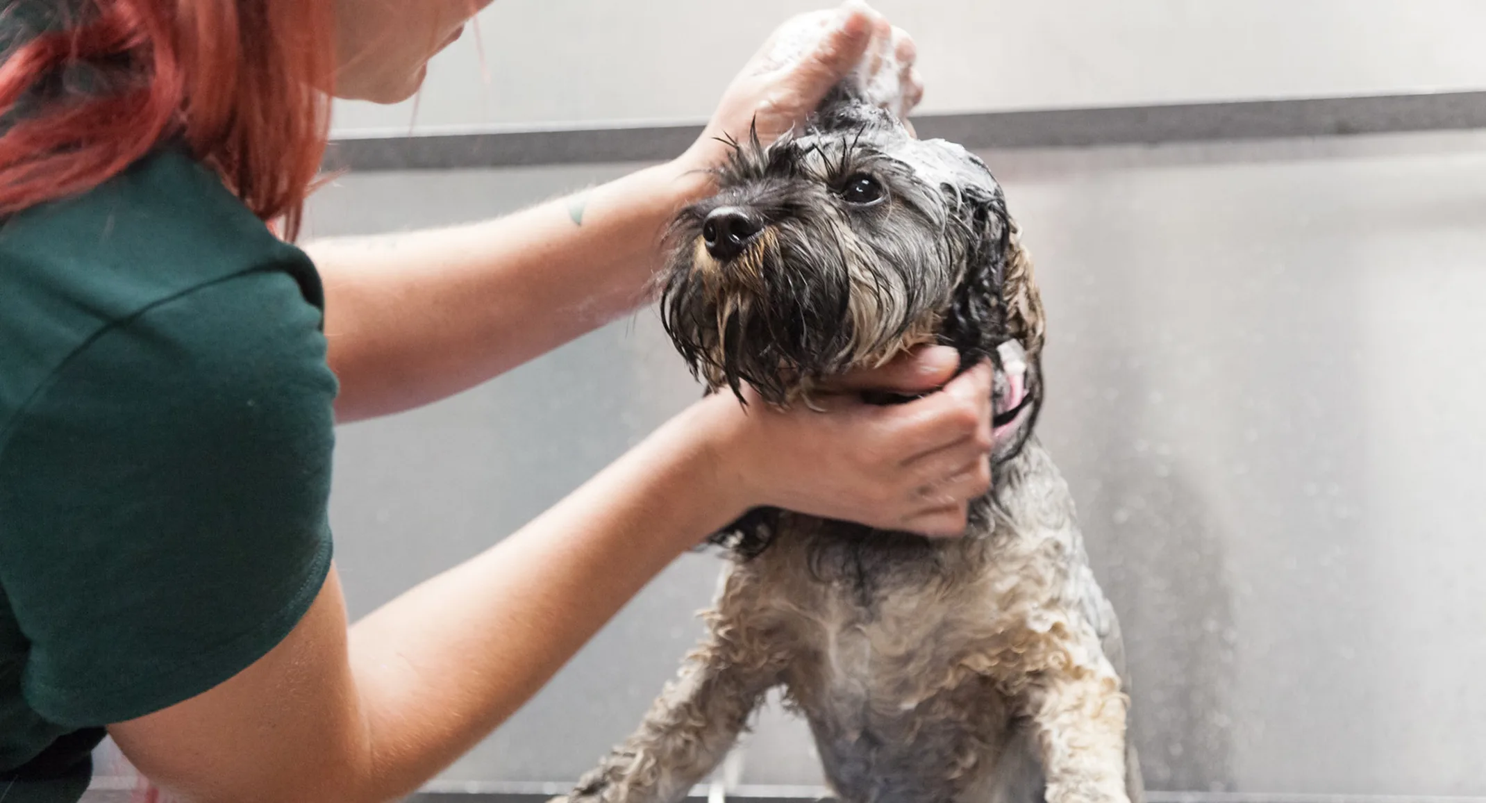
<svg viewBox="0 0 1486 803"><path fill-rule="evenodd" d="M13 117L0 134L0 214L86 192L180 140L293 239L330 129L330 0L79 6L0 64L0 115ZM100 80L58 83L71 67Z"/></svg>

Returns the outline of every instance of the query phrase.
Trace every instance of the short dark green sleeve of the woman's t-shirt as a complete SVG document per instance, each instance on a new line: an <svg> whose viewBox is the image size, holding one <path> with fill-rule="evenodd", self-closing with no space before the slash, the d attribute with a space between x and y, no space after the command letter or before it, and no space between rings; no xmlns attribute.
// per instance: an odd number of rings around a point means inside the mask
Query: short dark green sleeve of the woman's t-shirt
<svg viewBox="0 0 1486 803"><path fill-rule="evenodd" d="M287 272L196 287L94 336L0 433L0 584L40 715L166 708L309 608L331 556L319 321Z"/></svg>

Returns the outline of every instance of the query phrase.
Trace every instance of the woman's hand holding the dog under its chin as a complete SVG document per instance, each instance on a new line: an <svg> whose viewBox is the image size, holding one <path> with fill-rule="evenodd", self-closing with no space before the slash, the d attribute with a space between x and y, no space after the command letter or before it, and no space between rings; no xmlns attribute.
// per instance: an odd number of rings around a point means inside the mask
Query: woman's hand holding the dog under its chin
<svg viewBox="0 0 1486 803"><path fill-rule="evenodd" d="M991 366L951 379L954 349L932 346L843 378L811 410L777 409L744 388L701 402L719 482L743 509L770 506L924 535L964 532L991 488ZM947 384L948 382L948 384ZM859 391L933 391L878 406Z"/></svg>

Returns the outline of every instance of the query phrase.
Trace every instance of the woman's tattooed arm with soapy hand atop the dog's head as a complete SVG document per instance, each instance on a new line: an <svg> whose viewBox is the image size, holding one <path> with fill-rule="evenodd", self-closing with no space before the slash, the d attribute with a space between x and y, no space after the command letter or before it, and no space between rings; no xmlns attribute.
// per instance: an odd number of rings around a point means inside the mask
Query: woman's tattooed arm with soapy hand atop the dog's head
<svg viewBox="0 0 1486 803"><path fill-rule="evenodd" d="M825 27L804 52L776 48ZM425 404L490 379L593 330L646 299L666 225L710 192L707 170L756 126L777 138L863 61L898 70L917 100L912 42L860 4L780 28L725 92L684 156L531 210L468 226L330 239L306 247L325 286L330 366L342 421Z"/></svg>

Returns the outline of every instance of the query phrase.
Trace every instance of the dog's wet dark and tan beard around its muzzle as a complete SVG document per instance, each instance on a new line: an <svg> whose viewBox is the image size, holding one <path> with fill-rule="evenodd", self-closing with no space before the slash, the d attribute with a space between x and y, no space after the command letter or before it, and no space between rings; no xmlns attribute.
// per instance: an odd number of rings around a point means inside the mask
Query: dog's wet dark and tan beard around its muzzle
<svg viewBox="0 0 1486 803"><path fill-rule="evenodd" d="M692 235L666 284L666 327L709 388L808 400L834 376L936 342L958 277L948 245L914 229L866 241L828 210L768 226L725 263Z"/></svg>

